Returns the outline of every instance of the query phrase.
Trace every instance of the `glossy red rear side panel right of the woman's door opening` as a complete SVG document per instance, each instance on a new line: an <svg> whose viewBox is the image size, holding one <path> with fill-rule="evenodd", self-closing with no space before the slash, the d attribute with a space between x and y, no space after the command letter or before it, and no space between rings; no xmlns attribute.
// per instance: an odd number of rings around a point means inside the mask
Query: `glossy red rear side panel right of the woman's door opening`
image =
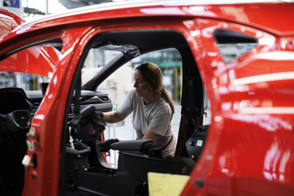
<svg viewBox="0 0 294 196"><path fill-rule="evenodd" d="M198 65L212 73L206 85L214 136L210 133L211 148L206 146L182 195L293 195L293 37L227 21L195 23ZM212 36L217 28L257 38L258 45L226 64ZM196 180L204 186L197 187Z"/></svg>

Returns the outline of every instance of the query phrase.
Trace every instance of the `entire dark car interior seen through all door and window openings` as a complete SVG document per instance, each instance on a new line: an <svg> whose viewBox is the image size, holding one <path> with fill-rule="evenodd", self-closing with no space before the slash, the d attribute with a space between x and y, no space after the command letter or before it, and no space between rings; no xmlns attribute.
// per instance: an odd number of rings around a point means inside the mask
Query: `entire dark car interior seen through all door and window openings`
<svg viewBox="0 0 294 196"><path fill-rule="evenodd" d="M256 43L254 38L232 31L215 31L214 38L219 44ZM5 60L14 53L44 43L45 46L54 43L52 46L60 51L60 41L53 39L33 43L0 59ZM91 48L121 53L81 87L81 69ZM112 168L106 161L105 153L97 148L98 143L104 141L103 134L90 136L92 122L80 115L80 112L89 109L91 112L111 111L111 97L105 92L98 92L97 87L115 70L138 55L166 48L178 50L183 65L181 119L175 157L155 158L151 150L152 140L123 141L111 145L113 150L119 151L118 168ZM21 160L26 155L26 138L31 120L46 91L46 85L42 86L43 93L16 87L0 89L0 187L4 195L20 195L23 189L24 167ZM190 175L207 136L208 126L202 126L203 109L204 84L195 57L181 33L167 29L146 29L97 34L82 53L67 97L62 130L60 194L121 195L123 192L123 195L148 195L148 172ZM74 121L77 123L74 124ZM104 124L103 121L100 123ZM75 149L70 147L70 136ZM199 136L204 141L201 147L196 146ZM33 157L33 163L38 167L36 156Z"/></svg>

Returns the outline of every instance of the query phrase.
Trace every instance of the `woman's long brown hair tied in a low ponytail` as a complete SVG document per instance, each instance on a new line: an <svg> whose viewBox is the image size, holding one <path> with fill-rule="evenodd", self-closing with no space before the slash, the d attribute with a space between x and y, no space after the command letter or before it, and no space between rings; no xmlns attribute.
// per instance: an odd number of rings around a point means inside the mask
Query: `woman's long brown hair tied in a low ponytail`
<svg viewBox="0 0 294 196"><path fill-rule="evenodd" d="M163 74L160 68L152 62L144 62L138 65L135 70L141 71L143 80L151 90L153 99L158 99L159 96L162 97L170 105L173 114L175 114L173 101L170 99L168 92L163 89Z"/></svg>

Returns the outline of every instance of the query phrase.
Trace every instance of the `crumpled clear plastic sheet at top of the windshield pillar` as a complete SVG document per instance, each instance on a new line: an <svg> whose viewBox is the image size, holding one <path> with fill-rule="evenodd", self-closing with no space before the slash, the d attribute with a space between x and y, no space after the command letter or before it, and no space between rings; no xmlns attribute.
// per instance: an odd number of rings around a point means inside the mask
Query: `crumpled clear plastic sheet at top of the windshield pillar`
<svg viewBox="0 0 294 196"><path fill-rule="evenodd" d="M141 55L140 51L138 50L138 47L130 44L125 43L98 43L97 45L94 45L92 48L99 48L101 50L113 50L113 51L119 51L122 53L129 53L133 57L138 57Z"/></svg>

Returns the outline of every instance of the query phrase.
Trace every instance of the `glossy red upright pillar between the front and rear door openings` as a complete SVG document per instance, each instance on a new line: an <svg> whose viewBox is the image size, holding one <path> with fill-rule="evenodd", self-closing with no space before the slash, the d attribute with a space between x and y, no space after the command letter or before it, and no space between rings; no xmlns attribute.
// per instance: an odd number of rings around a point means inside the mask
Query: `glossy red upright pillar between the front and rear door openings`
<svg viewBox="0 0 294 196"><path fill-rule="evenodd" d="M26 169L23 195L58 195L61 135L55 133L62 130L64 106L67 102L67 96L64 96L64 94L69 92L71 80L68 78L72 78L74 75L75 66L80 57L80 53L75 50L82 50L78 47L80 44L85 46L85 43L80 42L80 37L85 36L88 31L89 28L76 28L65 31L62 36L60 35L62 40L66 41L62 47L62 55L59 57L59 66L55 69L53 82L48 85L46 96L43 98L43 102L41 102L31 124L31 127L36 129L36 138L38 139L35 139L34 142L35 151L28 151L27 154L33 157L33 153L36 153L40 166ZM34 141L34 138L28 138L28 141ZM38 178L30 178L33 170L38 173Z"/></svg>

